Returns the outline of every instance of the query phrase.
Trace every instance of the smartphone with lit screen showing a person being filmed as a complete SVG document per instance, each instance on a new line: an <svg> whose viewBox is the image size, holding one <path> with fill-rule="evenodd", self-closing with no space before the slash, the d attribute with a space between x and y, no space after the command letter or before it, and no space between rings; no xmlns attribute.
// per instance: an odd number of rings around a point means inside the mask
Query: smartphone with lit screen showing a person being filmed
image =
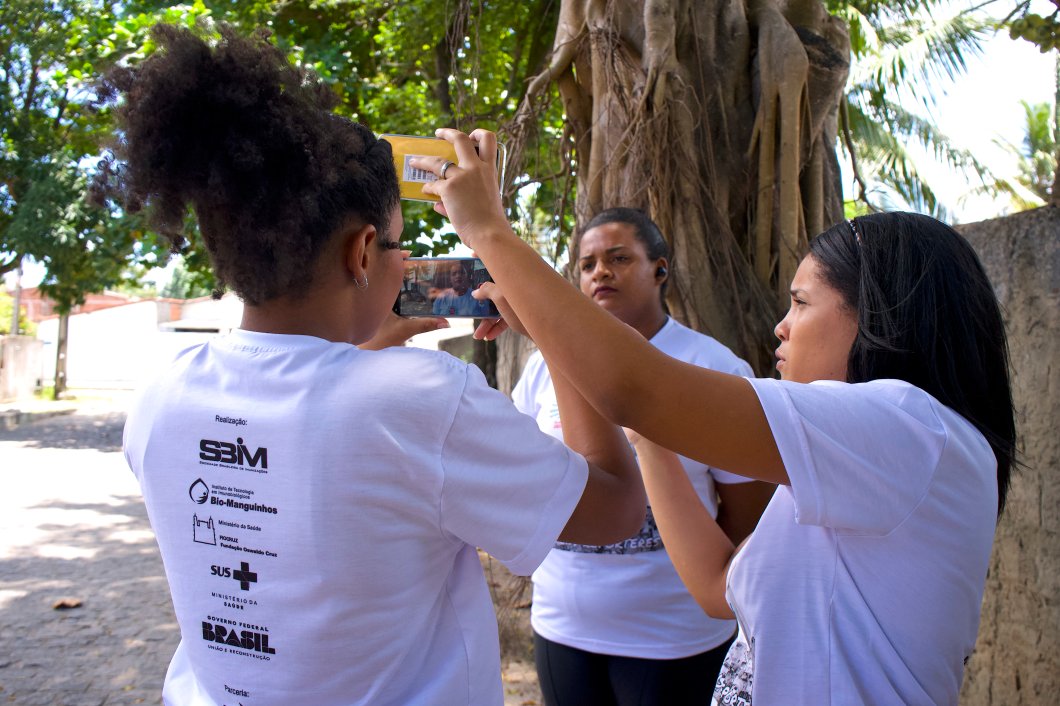
<svg viewBox="0 0 1060 706"><path fill-rule="evenodd" d="M496 319L497 307L489 299L471 296L482 282L492 282L478 258L409 258L394 302L399 316Z"/></svg>

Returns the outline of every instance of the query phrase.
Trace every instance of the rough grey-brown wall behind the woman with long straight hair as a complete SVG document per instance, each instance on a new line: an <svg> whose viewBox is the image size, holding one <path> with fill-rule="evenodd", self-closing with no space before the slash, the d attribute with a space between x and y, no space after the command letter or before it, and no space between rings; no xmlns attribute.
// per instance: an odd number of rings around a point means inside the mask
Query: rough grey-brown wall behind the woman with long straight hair
<svg viewBox="0 0 1060 706"><path fill-rule="evenodd" d="M962 706L1060 703L1060 209L960 228L1005 310L1017 470L997 527Z"/></svg>

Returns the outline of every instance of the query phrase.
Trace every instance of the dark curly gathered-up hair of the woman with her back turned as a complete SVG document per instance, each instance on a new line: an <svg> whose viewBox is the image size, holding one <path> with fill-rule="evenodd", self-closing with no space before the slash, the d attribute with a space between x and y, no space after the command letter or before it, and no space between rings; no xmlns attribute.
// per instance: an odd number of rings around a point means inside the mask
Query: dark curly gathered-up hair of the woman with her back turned
<svg viewBox="0 0 1060 706"><path fill-rule="evenodd" d="M332 112L335 94L267 33L208 43L158 24L159 50L108 76L122 200L182 240L189 208L218 280L260 303L304 289L321 245L351 218L386 232L398 182L386 142Z"/></svg>

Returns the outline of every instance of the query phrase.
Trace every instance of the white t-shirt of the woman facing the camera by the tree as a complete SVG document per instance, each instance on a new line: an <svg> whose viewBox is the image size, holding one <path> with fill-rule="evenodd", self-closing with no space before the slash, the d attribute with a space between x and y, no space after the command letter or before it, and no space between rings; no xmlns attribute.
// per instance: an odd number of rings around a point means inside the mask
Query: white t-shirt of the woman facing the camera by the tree
<svg viewBox="0 0 1060 706"><path fill-rule="evenodd" d="M704 368L750 375L750 367L709 336L673 319L651 342L664 353ZM515 406L563 437L555 390L540 353L527 361L512 391ZM681 458L696 494L718 514L714 482L747 479ZM718 647L736 630L708 617L685 588L649 514L630 540L606 546L560 543L533 573L531 623L541 636L569 647L624 657L672 659Z"/></svg>

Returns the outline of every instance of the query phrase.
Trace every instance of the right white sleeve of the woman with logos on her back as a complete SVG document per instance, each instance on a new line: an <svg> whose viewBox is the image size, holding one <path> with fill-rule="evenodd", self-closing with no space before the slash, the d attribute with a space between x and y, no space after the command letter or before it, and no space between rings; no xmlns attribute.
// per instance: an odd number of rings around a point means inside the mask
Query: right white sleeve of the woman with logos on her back
<svg viewBox="0 0 1060 706"><path fill-rule="evenodd" d="M467 380L442 445L445 531L531 573L581 499L585 459L537 428L482 373Z"/></svg>

